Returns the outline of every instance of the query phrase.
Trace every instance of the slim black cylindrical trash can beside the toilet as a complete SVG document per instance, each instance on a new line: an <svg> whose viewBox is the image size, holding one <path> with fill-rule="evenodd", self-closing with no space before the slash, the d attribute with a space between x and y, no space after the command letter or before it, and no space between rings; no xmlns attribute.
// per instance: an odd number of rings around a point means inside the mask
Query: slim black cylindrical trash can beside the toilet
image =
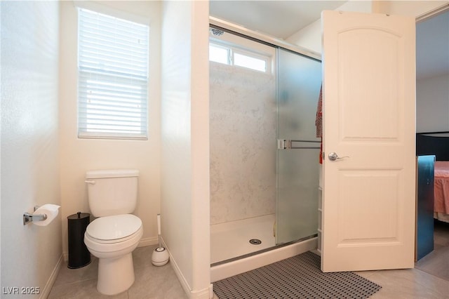
<svg viewBox="0 0 449 299"><path fill-rule="evenodd" d="M84 232L91 222L91 214L78 212L67 217L69 230L69 263L67 267L77 269L91 263L91 253L84 244Z"/></svg>

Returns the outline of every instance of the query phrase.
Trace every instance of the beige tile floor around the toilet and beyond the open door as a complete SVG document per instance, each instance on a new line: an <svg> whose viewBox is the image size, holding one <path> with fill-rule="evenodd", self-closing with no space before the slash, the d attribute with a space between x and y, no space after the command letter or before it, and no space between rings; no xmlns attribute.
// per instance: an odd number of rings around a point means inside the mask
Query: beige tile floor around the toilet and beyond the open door
<svg viewBox="0 0 449 299"><path fill-rule="evenodd" d="M449 225L438 227L435 233L435 248L444 247L449 248ZM151 255L154 248L156 246L135 249L133 256L136 279L133 286L126 292L115 296L98 293L96 289L98 260L93 259L90 265L81 269L69 270L67 265L63 266L48 298L188 298L170 263L163 267L152 265ZM441 256L429 259L431 260L429 265L420 265L420 268L427 267L426 272L415 268L366 271L357 272L357 274L382 286L382 289L371 297L373 299L449 299L449 280L441 278L449 269L449 251L441 251L441 253ZM440 263L436 263L434 259L440 260ZM443 264L447 267L441 272L441 267L432 268L430 265L432 263ZM436 272L430 274L433 270Z"/></svg>

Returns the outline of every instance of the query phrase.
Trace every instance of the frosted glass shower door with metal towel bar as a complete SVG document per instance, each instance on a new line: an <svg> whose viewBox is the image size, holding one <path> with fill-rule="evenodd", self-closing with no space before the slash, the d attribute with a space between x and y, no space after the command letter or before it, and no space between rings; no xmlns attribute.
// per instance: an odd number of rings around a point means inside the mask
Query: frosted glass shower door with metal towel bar
<svg viewBox="0 0 449 299"><path fill-rule="evenodd" d="M278 49L276 244L317 234L321 62Z"/></svg>

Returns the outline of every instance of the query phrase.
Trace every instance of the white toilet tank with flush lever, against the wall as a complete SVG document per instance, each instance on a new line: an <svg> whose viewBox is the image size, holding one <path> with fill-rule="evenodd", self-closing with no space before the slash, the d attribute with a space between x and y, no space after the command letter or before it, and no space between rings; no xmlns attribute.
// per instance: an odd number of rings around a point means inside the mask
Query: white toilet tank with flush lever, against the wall
<svg viewBox="0 0 449 299"><path fill-rule="evenodd" d="M130 214L138 201L137 169L87 171L91 213L95 217Z"/></svg>

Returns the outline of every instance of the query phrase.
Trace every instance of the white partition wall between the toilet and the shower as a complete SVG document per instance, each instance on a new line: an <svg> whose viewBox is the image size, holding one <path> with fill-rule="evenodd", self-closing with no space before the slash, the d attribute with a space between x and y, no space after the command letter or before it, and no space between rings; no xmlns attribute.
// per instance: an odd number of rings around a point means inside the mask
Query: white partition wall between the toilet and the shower
<svg viewBox="0 0 449 299"><path fill-rule="evenodd" d="M162 11L162 236L189 297L209 298L208 2Z"/></svg>

